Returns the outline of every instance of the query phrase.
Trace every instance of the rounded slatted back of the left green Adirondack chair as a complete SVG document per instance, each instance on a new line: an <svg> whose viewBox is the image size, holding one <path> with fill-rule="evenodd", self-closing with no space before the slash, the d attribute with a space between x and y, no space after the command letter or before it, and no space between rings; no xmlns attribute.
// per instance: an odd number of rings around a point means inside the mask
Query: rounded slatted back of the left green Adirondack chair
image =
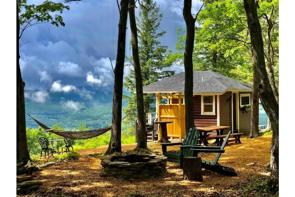
<svg viewBox="0 0 295 197"><path fill-rule="evenodd" d="M183 139L183 146L186 145L197 145L199 139L199 131L196 127L190 128L189 132L186 133ZM183 152L181 151L180 154L183 155L183 157L191 156L192 152L191 149L184 149Z"/></svg>

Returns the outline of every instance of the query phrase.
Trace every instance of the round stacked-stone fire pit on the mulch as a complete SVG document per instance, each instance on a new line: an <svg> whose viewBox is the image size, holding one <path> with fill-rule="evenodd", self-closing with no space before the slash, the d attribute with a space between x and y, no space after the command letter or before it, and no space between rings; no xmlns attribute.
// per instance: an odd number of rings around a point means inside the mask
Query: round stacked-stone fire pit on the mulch
<svg viewBox="0 0 295 197"><path fill-rule="evenodd" d="M100 176L107 179L141 179L163 175L167 157L155 154L128 154L101 157Z"/></svg>

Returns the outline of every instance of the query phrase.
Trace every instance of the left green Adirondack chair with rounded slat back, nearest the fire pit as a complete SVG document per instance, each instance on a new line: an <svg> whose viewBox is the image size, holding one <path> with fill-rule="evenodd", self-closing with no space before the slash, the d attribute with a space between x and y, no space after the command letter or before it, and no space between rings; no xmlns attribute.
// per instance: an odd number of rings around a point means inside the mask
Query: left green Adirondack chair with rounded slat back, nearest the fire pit
<svg viewBox="0 0 295 197"><path fill-rule="evenodd" d="M180 168L183 166L183 157L191 157L193 152L191 151L192 146L200 146L198 144L199 131L196 127L190 128L189 131L184 136L183 142L174 143L161 143L163 155L167 158L168 162L179 163ZM167 152L167 146L182 145L180 147L179 154L173 154Z"/></svg>

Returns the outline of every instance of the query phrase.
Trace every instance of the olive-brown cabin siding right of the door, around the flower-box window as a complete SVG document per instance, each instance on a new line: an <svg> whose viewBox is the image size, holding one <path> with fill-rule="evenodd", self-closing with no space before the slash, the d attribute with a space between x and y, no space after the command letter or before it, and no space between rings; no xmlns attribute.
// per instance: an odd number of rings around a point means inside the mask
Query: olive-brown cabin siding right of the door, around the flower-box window
<svg viewBox="0 0 295 197"><path fill-rule="evenodd" d="M251 111L248 113L242 113L242 110L240 108L240 94L247 94L250 93L250 100L252 99L252 92L239 92L239 130L243 133L250 132L251 129Z"/></svg>

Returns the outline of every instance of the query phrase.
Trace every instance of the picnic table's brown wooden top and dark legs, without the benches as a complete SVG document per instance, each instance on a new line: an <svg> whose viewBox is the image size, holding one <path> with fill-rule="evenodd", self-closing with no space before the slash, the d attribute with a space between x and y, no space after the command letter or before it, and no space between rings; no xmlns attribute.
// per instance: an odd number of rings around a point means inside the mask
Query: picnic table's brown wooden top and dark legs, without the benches
<svg viewBox="0 0 295 197"><path fill-rule="evenodd" d="M205 127L196 127L196 128L200 132L200 142L203 142L204 145L207 146L208 145L207 133L216 131L216 135L221 136L221 135L223 135L223 131L225 129L230 128L230 126L205 126ZM214 144L220 144L219 139L216 139Z"/></svg>

